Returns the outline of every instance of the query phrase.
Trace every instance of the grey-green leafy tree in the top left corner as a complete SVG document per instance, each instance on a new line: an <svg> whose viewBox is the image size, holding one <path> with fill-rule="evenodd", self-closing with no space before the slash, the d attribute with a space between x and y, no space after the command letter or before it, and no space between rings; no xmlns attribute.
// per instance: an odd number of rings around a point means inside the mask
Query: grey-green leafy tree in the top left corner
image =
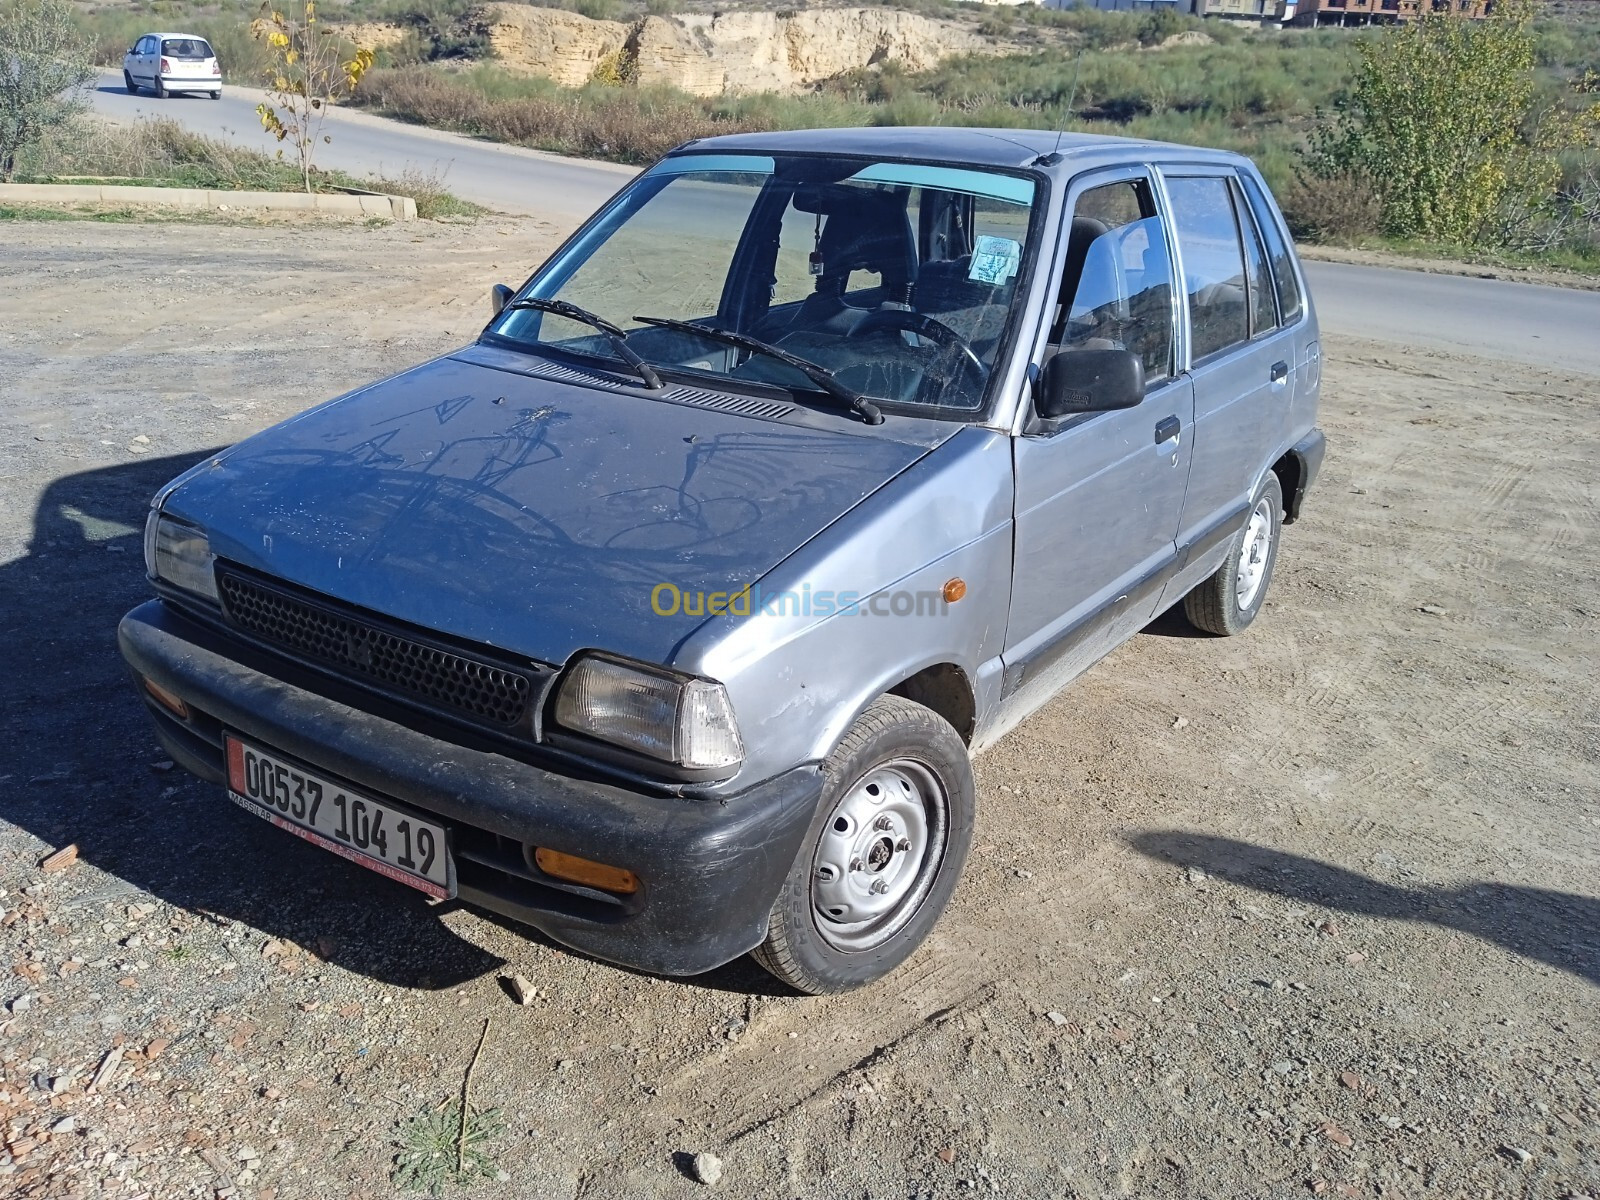
<svg viewBox="0 0 1600 1200"><path fill-rule="evenodd" d="M0 179L18 155L86 107L91 46L66 0L0 0Z"/></svg>

